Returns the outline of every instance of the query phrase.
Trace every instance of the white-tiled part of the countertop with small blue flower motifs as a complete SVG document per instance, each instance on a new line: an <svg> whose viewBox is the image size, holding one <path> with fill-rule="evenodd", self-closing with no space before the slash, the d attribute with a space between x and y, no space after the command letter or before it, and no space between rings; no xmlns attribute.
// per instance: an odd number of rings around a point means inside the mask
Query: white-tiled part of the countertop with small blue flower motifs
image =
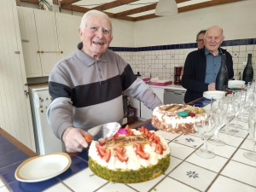
<svg viewBox="0 0 256 192"><path fill-rule="evenodd" d="M207 108L206 108L207 109ZM232 120L231 123L236 122ZM198 134L172 134L158 131L171 148L171 164L165 174L142 183L113 183L98 177L90 168L81 169L71 177L62 180L44 192L54 191L207 191L241 192L256 191L256 162L247 160L243 153L253 148L248 137L247 124L234 129L234 135L219 133L219 139L226 145L215 146L208 143L208 149L216 156L204 159L195 154L202 148L203 140ZM72 170L75 170L72 168Z"/></svg>

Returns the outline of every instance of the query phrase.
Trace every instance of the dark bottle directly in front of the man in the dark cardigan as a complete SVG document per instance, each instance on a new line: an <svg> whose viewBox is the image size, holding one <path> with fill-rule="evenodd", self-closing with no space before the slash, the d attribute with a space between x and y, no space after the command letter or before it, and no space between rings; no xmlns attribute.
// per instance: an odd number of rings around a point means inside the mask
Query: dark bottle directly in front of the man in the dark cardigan
<svg viewBox="0 0 256 192"><path fill-rule="evenodd" d="M216 77L215 89L224 90L224 85L225 85L225 88L227 89L228 81L229 81L229 76L228 76L228 70L226 67L226 55L223 54L221 56L221 65L219 67L218 74Z"/></svg>

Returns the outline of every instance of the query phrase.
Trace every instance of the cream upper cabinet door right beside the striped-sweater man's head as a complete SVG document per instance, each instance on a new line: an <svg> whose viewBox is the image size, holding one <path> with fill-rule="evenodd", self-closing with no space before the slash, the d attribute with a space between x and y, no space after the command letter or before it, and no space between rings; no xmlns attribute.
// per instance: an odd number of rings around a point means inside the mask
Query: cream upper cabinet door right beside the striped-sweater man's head
<svg viewBox="0 0 256 192"><path fill-rule="evenodd" d="M79 26L82 17L55 13L58 42L60 50L63 53L61 59L73 53L77 49L77 44L81 41L79 38Z"/></svg>

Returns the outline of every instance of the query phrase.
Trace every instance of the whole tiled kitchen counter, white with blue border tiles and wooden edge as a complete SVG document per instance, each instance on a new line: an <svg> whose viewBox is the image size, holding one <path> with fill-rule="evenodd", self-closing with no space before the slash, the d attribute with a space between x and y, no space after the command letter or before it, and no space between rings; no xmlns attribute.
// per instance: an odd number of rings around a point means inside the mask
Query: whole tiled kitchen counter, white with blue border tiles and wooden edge
<svg viewBox="0 0 256 192"><path fill-rule="evenodd" d="M192 105L208 109L209 100L198 99ZM57 177L38 183L21 183L15 179L15 170L20 163L34 156L30 149L0 129L0 191L209 191L241 192L256 191L256 162L247 160L244 151L251 150L253 143L248 137L247 125L244 129L232 129L234 135L219 133L225 146L208 148L217 154L212 159L203 159L195 154L202 147L203 140L197 134L172 134L158 131L166 138L171 148L171 165L165 174L143 183L113 183L97 177L88 168L87 151L73 154L72 165ZM149 130L156 129L148 119L144 125ZM137 128L131 125L131 128ZM1 181L2 180L2 181Z"/></svg>

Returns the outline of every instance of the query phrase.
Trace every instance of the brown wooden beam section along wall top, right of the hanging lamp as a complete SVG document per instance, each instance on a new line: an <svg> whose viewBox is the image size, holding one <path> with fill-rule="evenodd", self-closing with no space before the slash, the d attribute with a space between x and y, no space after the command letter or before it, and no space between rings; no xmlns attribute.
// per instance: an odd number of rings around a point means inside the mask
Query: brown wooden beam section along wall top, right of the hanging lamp
<svg viewBox="0 0 256 192"><path fill-rule="evenodd" d="M207 7L224 4L224 3L239 2L239 1L243 1L243 0L212 0L210 2L197 3L197 4L188 5L182 8L178 8L178 13L186 12L189 10L207 8Z"/></svg>

